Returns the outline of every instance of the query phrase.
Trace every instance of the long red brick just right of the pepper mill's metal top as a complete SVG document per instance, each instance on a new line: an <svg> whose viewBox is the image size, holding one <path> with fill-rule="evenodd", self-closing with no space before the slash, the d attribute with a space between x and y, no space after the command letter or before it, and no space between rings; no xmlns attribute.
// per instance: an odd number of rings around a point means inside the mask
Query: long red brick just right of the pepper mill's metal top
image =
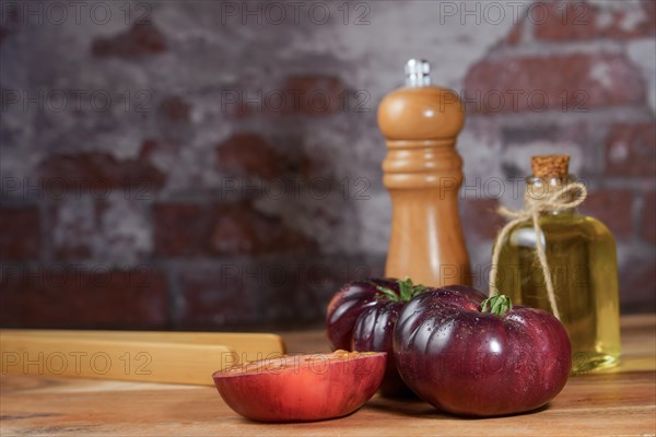
<svg viewBox="0 0 656 437"><path fill-rule="evenodd" d="M624 55L487 58L469 70L465 87L472 101L467 110L484 114L587 111L644 104L646 96L640 71Z"/></svg>

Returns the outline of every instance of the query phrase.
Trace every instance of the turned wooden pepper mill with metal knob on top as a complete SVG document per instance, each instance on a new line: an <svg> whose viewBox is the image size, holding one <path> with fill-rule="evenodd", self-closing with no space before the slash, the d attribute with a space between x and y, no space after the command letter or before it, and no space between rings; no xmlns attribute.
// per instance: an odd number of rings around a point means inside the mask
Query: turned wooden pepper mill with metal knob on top
<svg viewBox="0 0 656 437"><path fill-rule="evenodd" d="M378 106L388 147L383 184L393 203L387 276L430 286L471 285L458 216L462 158L455 149L464 122L457 94L431 86L424 60L409 60L406 86Z"/></svg>

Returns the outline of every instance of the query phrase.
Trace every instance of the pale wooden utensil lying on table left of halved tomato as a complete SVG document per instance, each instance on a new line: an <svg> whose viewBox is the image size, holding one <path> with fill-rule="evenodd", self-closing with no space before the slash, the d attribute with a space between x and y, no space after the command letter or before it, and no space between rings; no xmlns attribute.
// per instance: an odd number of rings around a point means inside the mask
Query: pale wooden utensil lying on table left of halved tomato
<svg viewBox="0 0 656 437"><path fill-rule="evenodd" d="M284 354L279 335L1 330L2 374L212 385L213 371Z"/></svg>

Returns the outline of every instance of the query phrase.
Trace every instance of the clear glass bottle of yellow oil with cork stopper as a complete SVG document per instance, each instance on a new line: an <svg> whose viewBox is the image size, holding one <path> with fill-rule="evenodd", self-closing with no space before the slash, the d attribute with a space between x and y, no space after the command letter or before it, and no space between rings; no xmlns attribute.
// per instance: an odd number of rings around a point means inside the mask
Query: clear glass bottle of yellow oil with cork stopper
<svg viewBox="0 0 656 437"><path fill-rule="evenodd" d="M534 156L526 198L539 198L575 181L569 156ZM617 249L612 234L598 220L575 209L544 211L541 234L531 220L516 224L503 241L497 290L514 304L551 310L536 238L544 247L560 318L572 341L575 374L613 367L620 356Z"/></svg>

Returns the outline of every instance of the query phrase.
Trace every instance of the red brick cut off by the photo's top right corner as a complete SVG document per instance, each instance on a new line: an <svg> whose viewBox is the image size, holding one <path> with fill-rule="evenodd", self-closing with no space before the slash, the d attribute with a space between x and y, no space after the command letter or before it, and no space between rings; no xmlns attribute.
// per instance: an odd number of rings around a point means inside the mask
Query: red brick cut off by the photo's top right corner
<svg viewBox="0 0 656 437"><path fill-rule="evenodd" d="M600 12L585 1L552 1L542 2L546 19L535 16L535 36L538 39L564 42L594 38L626 39L634 37L648 37L656 34L656 14L654 1L642 2L644 20L631 28L625 28L626 10L608 11L610 20L607 25L600 26L598 20Z"/></svg>

